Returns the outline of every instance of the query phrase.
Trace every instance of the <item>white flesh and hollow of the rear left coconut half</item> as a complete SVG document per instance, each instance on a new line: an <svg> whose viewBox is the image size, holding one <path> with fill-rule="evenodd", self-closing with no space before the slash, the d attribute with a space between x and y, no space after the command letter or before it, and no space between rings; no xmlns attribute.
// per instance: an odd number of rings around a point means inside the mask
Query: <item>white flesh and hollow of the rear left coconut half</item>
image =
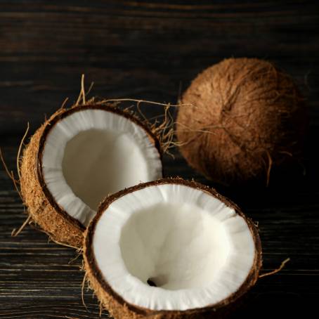
<svg viewBox="0 0 319 319"><path fill-rule="evenodd" d="M89 109L61 119L49 131L42 172L54 200L87 226L105 195L162 177L162 163L141 126Z"/></svg>

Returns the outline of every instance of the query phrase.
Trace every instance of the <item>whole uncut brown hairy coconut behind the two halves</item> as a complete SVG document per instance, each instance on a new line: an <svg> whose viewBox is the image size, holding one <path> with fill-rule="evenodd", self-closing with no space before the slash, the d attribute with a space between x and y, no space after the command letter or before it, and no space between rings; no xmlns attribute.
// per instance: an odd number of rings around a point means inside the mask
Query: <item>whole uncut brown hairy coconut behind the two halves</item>
<svg viewBox="0 0 319 319"><path fill-rule="evenodd" d="M225 185L268 183L301 159L306 106L289 75L256 58L199 74L181 98L176 134L191 167Z"/></svg>

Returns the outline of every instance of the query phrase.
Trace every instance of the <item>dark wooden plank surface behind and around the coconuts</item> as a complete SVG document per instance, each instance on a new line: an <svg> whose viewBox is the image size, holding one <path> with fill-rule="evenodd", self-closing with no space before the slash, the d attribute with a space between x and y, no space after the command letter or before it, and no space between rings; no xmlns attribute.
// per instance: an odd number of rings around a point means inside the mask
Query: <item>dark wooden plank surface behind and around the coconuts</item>
<svg viewBox="0 0 319 319"><path fill-rule="evenodd" d="M306 175L267 190L220 190L259 221L264 271L291 259L259 280L242 315L310 318L319 299L318 18L317 1L1 1L0 146L8 165L15 169L27 121L33 132L65 97L74 101L82 73L95 82L93 95L174 103L197 72L223 58L278 63L311 108ZM178 154L165 158L165 174L208 183ZM72 260L76 252L30 226L11 237L23 210L1 169L0 318L98 318L92 292L84 293L88 309L82 304L81 256Z"/></svg>

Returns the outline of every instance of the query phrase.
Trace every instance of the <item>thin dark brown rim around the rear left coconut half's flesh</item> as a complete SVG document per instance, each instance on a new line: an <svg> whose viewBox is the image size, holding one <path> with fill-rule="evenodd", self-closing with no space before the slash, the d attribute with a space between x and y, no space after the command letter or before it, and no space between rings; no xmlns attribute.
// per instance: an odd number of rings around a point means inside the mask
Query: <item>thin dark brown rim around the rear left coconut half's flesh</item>
<svg viewBox="0 0 319 319"><path fill-rule="evenodd" d="M129 119L131 122L134 122L134 124L138 125L141 129L143 129L146 134L148 135L148 138L150 139L150 142L155 146L157 152L159 153L159 160L162 162L162 148L161 144L159 142L159 138L152 132L150 127L141 122L136 115L131 114L129 111L125 110L119 110L119 108L115 108L112 105L98 105L98 104L87 104L87 105L77 105L74 106L68 110L63 110L63 112L58 112L53 118L48 119L48 121L45 124L44 131L41 134L40 140L39 140L39 150L37 152L37 178L41 187L42 192L44 193L44 196L48 200L48 202L51 204L51 206L56 210L56 212L63 217L63 219L67 219L70 223L72 223L75 227L77 227L79 230L84 232L86 227L77 219L72 217L70 214L65 211L60 205L56 202L53 195L51 194L50 190L48 190L48 187L46 185L46 181L44 180L44 174L42 169L42 157L44 152L44 147L46 145L46 138L48 134L50 133L51 129L60 122L60 120L64 119L65 117L68 117L69 115L72 115L75 112L80 112L83 110L103 110L105 112L111 112L116 115L125 117L126 119ZM162 172L163 172L163 165L162 165ZM101 202L103 199L101 199Z"/></svg>

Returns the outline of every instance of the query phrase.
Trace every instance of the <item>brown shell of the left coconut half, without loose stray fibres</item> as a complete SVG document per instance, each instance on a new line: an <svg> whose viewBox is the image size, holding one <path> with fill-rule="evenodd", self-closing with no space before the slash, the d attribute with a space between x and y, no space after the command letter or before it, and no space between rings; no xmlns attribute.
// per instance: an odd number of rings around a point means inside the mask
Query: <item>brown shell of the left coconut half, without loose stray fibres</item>
<svg viewBox="0 0 319 319"><path fill-rule="evenodd" d="M85 227L77 221L77 219L67 214L63 207L60 207L60 205L56 203L46 187L42 174L42 152L46 143L46 136L55 124L73 112L88 108L114 112L143 127L150 141L154 143L159 154L162 156L159 140L157 136L152 133L151 129L139 121L131 112L119 110L112 105L89 104L79 105L70 109L62 108L41 125L30 139L30 143L25 147L22 159L20 160L20 187L22 198L27 207L27 213L30 214L34 223L48 233L54 241L72 247L82 247Z"/></svg>

